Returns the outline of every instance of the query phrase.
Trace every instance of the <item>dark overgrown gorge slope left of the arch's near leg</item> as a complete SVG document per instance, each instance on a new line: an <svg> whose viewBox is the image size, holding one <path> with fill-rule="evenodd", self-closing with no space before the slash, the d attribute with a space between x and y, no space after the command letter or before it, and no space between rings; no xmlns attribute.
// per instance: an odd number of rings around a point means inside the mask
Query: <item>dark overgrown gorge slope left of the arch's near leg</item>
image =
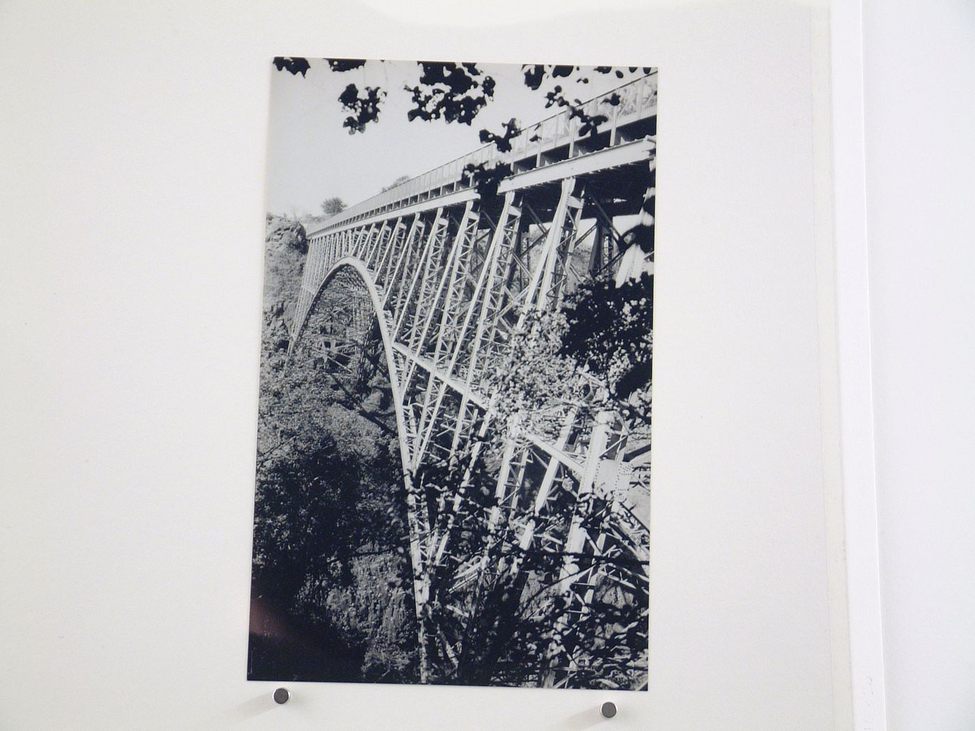
<svg viewBox="0 0 975 731"><path fill-rule="evenodd" d="M287 243L269 251L301 253ZM381 371L336 381L322 359L289 361L275 292L291 285L265 281L249 676L414 681L414 609L402 585L409 531L389 384Z"/></svg>

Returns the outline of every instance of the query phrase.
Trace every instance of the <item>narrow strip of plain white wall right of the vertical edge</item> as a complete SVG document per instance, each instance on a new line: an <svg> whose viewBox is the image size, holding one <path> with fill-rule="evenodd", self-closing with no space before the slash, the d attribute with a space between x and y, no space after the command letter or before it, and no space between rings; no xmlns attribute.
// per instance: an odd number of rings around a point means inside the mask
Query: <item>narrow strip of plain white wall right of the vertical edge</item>
<svg viewBox="0 0 975 731"><path fill-rule="evenodd" d="M887 720L975 727L975 4L865 0Z"/></svg>

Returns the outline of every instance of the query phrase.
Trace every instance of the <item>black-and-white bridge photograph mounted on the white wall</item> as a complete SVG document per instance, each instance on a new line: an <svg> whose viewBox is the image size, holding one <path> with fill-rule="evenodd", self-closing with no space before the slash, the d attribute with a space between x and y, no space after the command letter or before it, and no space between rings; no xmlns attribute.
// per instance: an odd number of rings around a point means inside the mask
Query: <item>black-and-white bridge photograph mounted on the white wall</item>
<svg viewBox="0 0 975 731"><path fill-rule="evenodd" d="M249 679L646 689L656 109L273 60Z"/></svg>

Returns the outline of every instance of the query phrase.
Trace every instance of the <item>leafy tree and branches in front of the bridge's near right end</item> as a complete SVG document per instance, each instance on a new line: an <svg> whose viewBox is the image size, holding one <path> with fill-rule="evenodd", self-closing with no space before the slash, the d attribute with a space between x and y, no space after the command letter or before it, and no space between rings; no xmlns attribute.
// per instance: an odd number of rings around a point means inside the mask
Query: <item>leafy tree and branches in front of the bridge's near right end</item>
<svg viewBox="0 0 975 731"><path fill-rule="evenodd" d="M557 311L529 316L525 327L513 333L508 356L492 376L498 396L495 423L517 422L554 438L561 420L546 415L553 404L611 409L625 420L631 442L648 448L652 286L649 276L623 288L604 277L567 294ZM485 515L497 505L492 462L509 435L490 430L485 439L483 448L472 445L456 460L431 464L423 476L432 506L448 504L443 496L455 494L458 485L466 490L458 512L431 509L433 535L452 554L481 556L491 566L473 589L456 581L454 564L434 568L431 635L448 637L453 656L438 652L442 648L434 644L428 649L430 673L437 682L541 682L550 672L553 618L565 611L558 590L564 565L558 536L565 535L573 512L584 511L583 522L595 529L612 506L606 495L580 506L571 489L555 490L544 512L534 513L531 501L512 503L500 529L490 532ZM555 540L525 544L519 526L528 521L536 536ZM622 580L594 587L587 611L575 616L566 631L564 641L576 648L580 661L573 682L581 687L640 684L649 602L645 566L622 537L586 560L586 568ZM465 617L458 619L458 606L469 608Z"/></svg>

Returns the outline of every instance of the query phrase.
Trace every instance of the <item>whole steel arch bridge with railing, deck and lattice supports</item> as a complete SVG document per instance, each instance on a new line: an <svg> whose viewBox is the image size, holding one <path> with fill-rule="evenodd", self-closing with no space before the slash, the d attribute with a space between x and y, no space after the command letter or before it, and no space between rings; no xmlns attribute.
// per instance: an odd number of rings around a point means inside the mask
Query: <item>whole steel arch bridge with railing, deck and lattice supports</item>
<svg viewBox="0 0 975 731"><path fill-rule="evenodd" d="M545 406L558 424L553 433L494 419L492 374L513 334L532 312L558 309L580 283L615 275L626 248L620 222L642 211L645 219L647 201L652 211L656 74L591 99L586 112L605 115L595 133L581 135L571 115L557 114L524 129L510 152L475 150L309 233L290 358L327 353L350 372L377 363L388 371L421 681L436 679L435 663L470 662L464 644L471 637L445 630L433 613L454 616L462 627L479 611L486 586L502 580L506 600L517 606L538 584L523 558L533 548L558 557L557 581L537 610L551 619L538 684L580 682L592 648L576 628L594 598L648 596L648 487L637 479L648 467L648 434L618 413L562 403ZM471 165L506 165L510 173L496 195L482 196L465 175ZM652 275L652 266L652 251L641 254L638 270ZM311 327L315 318L328 326ZM470 468L439 491L424 484L425 470L458 459L469 464L492 431L503 447L491 461L492 499L479 506L487 538L465 551L456 517L474 499L465 482ZM560 501L569 506L565 518L546 520ZM447 576L450 591L438 590L434 576ZM634 601L625 596L618 600ZM643 601L637 627L617 627L616 639L600 640L609 645L628 633L643 644L604 647L643 665L617 686L646 681Z"/></svg>

